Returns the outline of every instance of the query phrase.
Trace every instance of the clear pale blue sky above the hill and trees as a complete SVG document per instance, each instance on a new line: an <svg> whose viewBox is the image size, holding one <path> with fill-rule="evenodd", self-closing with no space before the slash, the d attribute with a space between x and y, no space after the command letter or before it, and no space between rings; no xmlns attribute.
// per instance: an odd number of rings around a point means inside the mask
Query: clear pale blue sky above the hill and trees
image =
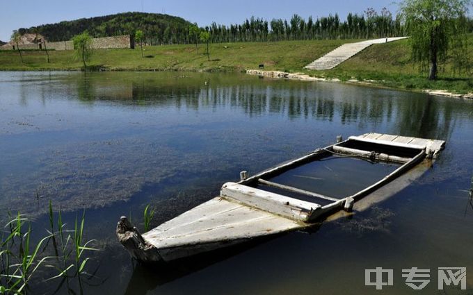
<svg viewBox="0 0 473 295"><path fill-rule="evenodd" d="M143 4L143 6L142 6ZM380 11L387 7L396 12L392 0L2 0L0 4L0 40L10 40L13 29L51 24L81 17L96 17L127 11L159 12L176 15L205 26L241 23L254 15L271 20L289 19L297 13L305 18L335 14L344 19L348 12L361 13L368 7Z"/></svg>

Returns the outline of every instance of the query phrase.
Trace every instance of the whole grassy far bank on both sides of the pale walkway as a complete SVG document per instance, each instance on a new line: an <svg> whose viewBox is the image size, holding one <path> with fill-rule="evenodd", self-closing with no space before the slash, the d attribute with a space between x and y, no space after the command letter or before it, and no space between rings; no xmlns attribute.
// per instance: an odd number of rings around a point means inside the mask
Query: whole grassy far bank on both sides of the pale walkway
<svg viewBox="0 0 473 295"><path fill-rule="evenodd" d="M356 40L250 42L211 44L210 61L205 47L199 45L166 45L145 47L145 58L140 49L99 49L90 60L90 67L104 70L175 70L175 71L244 71L257 69L303 72L322 78L339 78L342 81L357 79L371 84L406 90L447 90L473 92L471 73L453 74L451 58L447 58L438 81L428 81L426 72L410 58L408 40L376 44L357 56L327 71L310 71L303 67L345 42ZM468 38L473 45L473 35ZM468 53L473 60L473 51ZM45 52L25 51L24 63L15 51L0 51L0 70L77 70L81 62L74 60L72 51L51 51L51 63Z"/></svg>

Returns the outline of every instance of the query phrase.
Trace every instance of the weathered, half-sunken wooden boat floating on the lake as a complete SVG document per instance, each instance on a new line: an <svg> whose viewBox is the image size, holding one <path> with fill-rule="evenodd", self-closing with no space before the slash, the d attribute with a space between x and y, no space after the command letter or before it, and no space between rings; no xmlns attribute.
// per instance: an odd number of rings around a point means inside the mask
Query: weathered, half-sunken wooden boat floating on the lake
<svg viewBox="0 0 473 295"><path fill-rule="evenodd" d="M430 167L444 144L442 140L379 133L352 136L344 141L337 137L336 144L316 149L254 176L248 177L247 172L242 171L241 180L238 183L225 183L220 196L143 235L131 226L127 217L121 217L116 233L133 258L142 262L168 262L257 237L306 228L313 226L316 221L333 218L336 212L353 210L354 203L364 196L383 199L379 192L388 195L399 191L410 183L410 178L402 180L399 176L417 165ZM340 193L338 196L328 196L314 192L316 189L307 189L307 185L301 188L271 181L289 171L305 169L313 163L319 165L320 161L328 157L396 163L397 166L375 183L348 195ZM334 177L335 181L340 180ZM391 185L383 191L383 187L390 185L392 180L399 180L401 185ZM358 183L353 186L356 185ZM323 185L312 187L321 188Z"/></svg>

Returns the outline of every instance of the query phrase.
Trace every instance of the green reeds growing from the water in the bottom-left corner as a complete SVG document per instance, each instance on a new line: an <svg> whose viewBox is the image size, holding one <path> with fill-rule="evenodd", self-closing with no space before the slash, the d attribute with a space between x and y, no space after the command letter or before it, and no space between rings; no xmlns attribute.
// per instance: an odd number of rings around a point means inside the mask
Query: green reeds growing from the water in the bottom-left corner
<svg viewBox="0 0 473 295"><path fill-rule="evenodd" d="M0 233L0 294L26 294L31 279L42 266L58 270L58 275L45 281L61 277L67 280L77 277L80 280L80 276L86 273L86 265L90 260L86 257L86 251L97 249L89 246L95 240L83 242L85 211L81 219L76 217L74 230L67 230L59 210L55 231L54 212L49 201L48 235L38 242L33 242L31 237L31 220L19 212L15 217L10 213L8 216L10 221ZM56 255L45 255L43 251L47 251L51 240ZM49 264L46 265L45 262Z"/></svg>

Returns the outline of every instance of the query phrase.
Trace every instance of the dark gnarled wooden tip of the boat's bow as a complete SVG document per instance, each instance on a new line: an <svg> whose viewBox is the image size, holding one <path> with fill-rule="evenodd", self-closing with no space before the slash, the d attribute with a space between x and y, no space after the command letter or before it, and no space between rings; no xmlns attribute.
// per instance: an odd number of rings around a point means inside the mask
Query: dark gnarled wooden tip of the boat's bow
<svg viewBox="0 0 473 295"><path fill-rule="evenodd" d="M143 239L138 229L131 225L127 217L120 217L116 234L118 240L125 246L132 258L143 262L157 262L162 260L158 249Z"/></svg>

